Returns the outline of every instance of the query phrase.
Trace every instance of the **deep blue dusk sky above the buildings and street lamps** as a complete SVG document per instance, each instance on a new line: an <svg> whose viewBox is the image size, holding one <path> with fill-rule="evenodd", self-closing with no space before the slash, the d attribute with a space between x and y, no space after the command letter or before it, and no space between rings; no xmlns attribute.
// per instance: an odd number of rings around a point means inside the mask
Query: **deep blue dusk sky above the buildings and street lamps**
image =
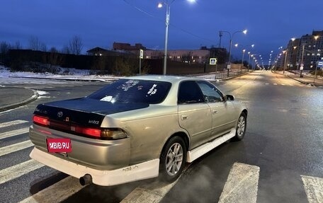
<svg viewBox="0 0 323 203"><path fill-rule="evenodd" d="M173 0L169 0L171 2ZM62 50L69 40L81 37L82 52L94 47L111 50L113 42L164 50L166 8L157 0L0 0L0 42L17 41L28 48L31 36L47 49ZM291 37L323 30L323 0L175 0L171 4L169 50L218 47L219 31L236 33L239 43L253 52L269 55L285 47ZM229 50L229 34L221 47ZM242 49L232 47L239 58Z"/></svg>

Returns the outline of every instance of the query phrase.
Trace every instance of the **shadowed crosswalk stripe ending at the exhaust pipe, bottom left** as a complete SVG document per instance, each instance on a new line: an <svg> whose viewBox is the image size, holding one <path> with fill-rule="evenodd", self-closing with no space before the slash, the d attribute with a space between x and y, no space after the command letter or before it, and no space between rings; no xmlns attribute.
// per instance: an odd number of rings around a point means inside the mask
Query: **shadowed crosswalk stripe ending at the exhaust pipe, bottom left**
<svg viewBox="0 0 323 203"><path fill-rule="evenodd" d="M79 192L85 186L79 184L79 179L69 176L56 182L54 185L41 190L33 196L23 199L19 203L32 203L32 202L62 202L64 199Z"/></svg>

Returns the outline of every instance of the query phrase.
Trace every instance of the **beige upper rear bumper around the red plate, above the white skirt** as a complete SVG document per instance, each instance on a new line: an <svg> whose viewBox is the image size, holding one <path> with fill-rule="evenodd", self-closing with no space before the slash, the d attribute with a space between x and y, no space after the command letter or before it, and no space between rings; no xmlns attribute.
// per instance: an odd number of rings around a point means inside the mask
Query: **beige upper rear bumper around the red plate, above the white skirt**
<svg viewBox="0 0 323 203"><path fill-rule="evenodd" d="M67 161L73 161L99 170L115 170L130 165L130 138L101 140L79 137L55 129L33 124L29 129L30 141L42 151L47 151L47 138L71 139L72 152ZM60 158L59 155L52 154Z"/></svg>

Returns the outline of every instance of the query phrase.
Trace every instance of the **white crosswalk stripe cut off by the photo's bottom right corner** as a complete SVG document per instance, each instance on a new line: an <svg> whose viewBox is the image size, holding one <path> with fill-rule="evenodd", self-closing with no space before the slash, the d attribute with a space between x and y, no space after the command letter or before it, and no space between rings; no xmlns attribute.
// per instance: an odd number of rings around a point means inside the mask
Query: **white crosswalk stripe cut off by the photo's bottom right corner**
<svg viewBox="0 0 323 203"><path fill-rule="evenodd" d="M300 175L304 183L305 192L308 202L322 203L323 202L323 178Z"/></svg>

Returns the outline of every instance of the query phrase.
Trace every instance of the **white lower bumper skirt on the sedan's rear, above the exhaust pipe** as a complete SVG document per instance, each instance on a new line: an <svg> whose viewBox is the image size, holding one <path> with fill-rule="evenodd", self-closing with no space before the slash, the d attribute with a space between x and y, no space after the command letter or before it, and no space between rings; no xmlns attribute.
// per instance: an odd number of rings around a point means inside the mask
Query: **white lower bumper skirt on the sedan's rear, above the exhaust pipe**
<svg viewBox="0 0 323 203"><path fill-rule="evenodd" d="M63 173L72 175L75 178L89 174L96 185L110 186L119 185L125 182L143 180L157 177L159 174L159 158L116 170L98 170L64 160L50 153L34 148L30 158L50 168L55 168Z"/></svg>

